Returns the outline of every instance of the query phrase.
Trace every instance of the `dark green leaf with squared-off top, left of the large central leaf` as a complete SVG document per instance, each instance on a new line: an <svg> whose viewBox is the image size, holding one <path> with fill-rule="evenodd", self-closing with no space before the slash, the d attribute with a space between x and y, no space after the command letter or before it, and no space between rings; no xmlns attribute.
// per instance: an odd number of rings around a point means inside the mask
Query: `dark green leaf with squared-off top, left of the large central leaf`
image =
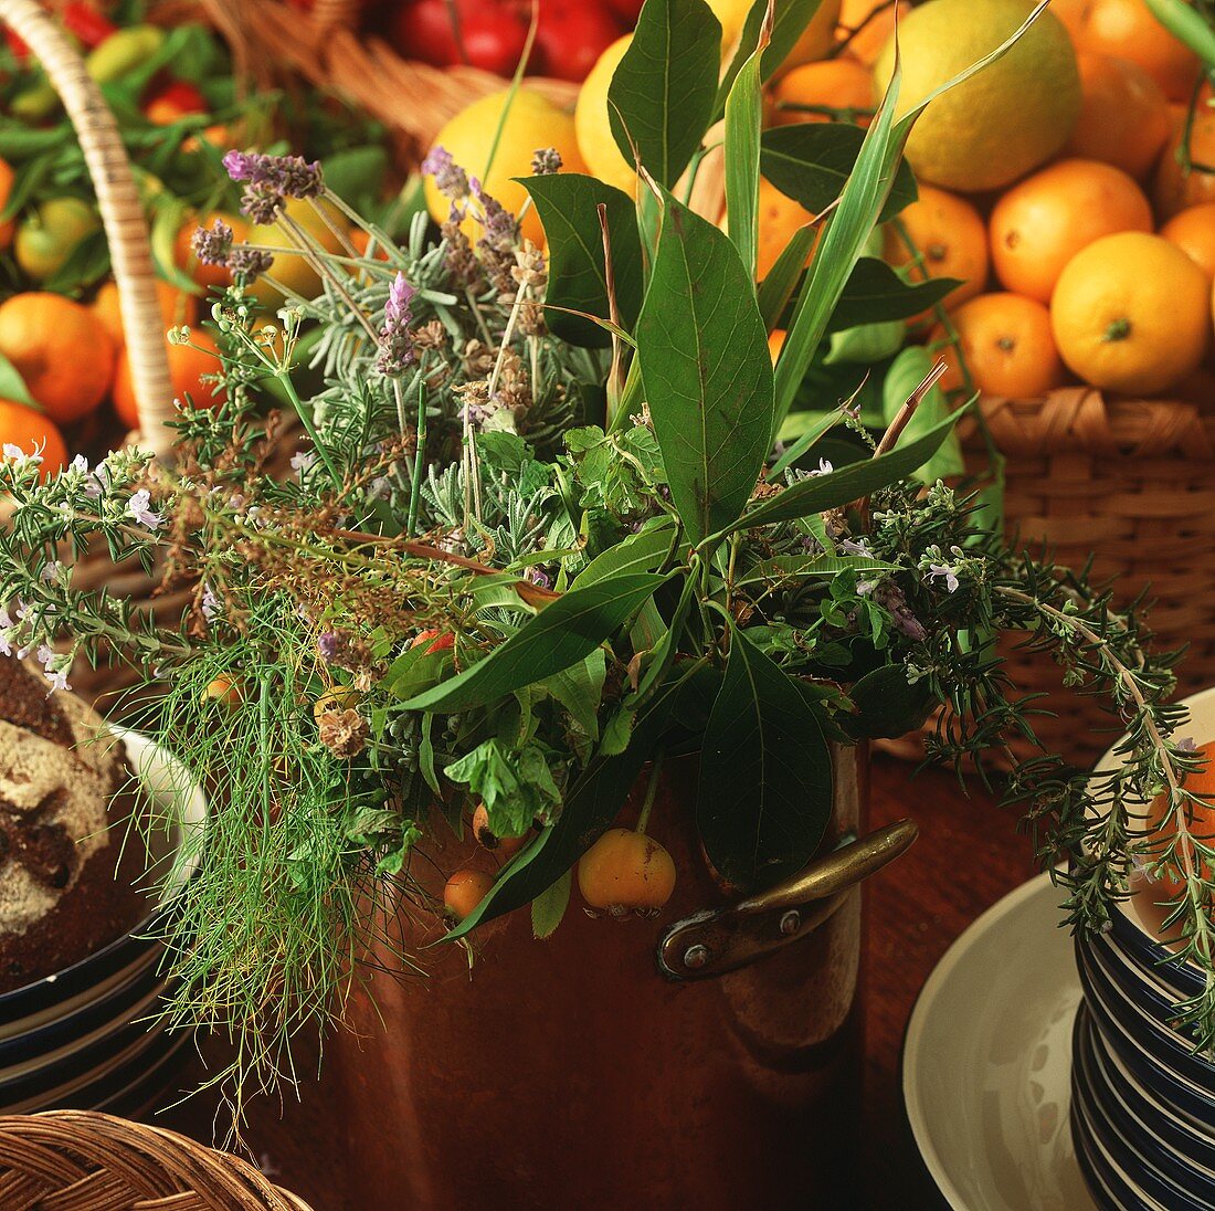
<svg viewBox="0 0 1215 1211"><path fill-rule="evenodd" d="M621 323L631 331L642 310L644 289L633 199L611 185L578 173L518 180L531 193L536 213L544 224L549 254L546 302L600 320L611 319L598 210L605 207L616 306ZM583 348L605 349L611 344L610 333L581 316L550 311L548 326L563 340Z"/></svg>

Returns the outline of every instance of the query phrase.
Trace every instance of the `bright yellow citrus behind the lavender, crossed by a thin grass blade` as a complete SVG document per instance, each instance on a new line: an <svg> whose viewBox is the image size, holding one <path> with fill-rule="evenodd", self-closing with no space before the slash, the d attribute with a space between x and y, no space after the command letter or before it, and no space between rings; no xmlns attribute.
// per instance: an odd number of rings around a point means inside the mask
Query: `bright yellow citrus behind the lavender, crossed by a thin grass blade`
<svg viewBox="0 0 1215 1211"><path fill-rule="evenodd" d="M510 101L508 90L492 92L462 109L439 131L434 146L442 147L469 176L481 181L486 193L502 203L512 214L519 214L527 201L527 190L512 180L532 175L532 159L537 151L553 147L561 157L564 170L582 173L586 165L578 153L578 141L573 133L573 118L547 97L531 89L520 89L510 102L510 112L502 126L493 164L490 151L493 136L502 120L502 112ZM426 208L435 223L443 223L451 213L451 199L435 185L434 178L425 180ZM521 220L522 235L533 243L544 240L544 229L535 207L529 208ZM465 233L470 240L480 235L476 220L465 220Z"/></svg>

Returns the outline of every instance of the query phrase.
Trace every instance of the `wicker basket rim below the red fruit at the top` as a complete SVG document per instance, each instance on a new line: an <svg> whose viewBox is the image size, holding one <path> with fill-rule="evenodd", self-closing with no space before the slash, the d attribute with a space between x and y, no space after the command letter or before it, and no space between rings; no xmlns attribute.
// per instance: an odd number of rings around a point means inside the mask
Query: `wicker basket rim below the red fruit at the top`
<svg viewBox="0 0 1215 1211"><path fill-rule="evenodd" d="M473 67L433 67L401 56L380 38L360 32L358 0L317 0L311 13L283 0L199 0L233 49L238 68L258 64L298 73L333 89L383 122L417 163L448 118L477 97L507 86ZM558 105L572 105L578 86L538 77L527 88Z"/></svg>

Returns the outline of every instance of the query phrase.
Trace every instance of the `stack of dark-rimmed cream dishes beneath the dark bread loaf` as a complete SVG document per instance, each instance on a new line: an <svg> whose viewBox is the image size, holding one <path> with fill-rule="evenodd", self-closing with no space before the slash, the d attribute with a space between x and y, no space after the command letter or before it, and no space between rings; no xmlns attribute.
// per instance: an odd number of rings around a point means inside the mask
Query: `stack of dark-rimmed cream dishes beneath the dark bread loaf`
<svg viewBox="0 0 1215 1211"><path fill-rule="evenodd" d="M185 846L193 861L179 863L176 886L197 861L205 818L202 792L149 740L115 728L131 766L158 809L179 824L148 837L153 863ZM168 990L164 946L154 934L166 901L147 920L86 959L0 995L0 1113L49 1109L135 1114L164 1088L186 1032L157 1020Z"/></svg>

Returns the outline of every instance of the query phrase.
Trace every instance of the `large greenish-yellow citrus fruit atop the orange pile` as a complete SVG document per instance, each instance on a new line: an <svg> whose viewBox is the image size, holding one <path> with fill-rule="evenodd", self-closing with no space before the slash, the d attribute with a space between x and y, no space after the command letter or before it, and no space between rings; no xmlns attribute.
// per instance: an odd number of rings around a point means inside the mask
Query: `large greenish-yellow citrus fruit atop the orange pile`
<svg viewBox="0 0 1215 1211"><path fill-rule="evenodd" d="M929 0L899 27L903 83L897 113L994 51L1033 11L1033 0ZM874 67L889 83L894 39ZM906 156L932 185L998 190L1050 159L1080 113L1080 72L1063 23L1044 12L1002 58L933 101Z"/></svg>

